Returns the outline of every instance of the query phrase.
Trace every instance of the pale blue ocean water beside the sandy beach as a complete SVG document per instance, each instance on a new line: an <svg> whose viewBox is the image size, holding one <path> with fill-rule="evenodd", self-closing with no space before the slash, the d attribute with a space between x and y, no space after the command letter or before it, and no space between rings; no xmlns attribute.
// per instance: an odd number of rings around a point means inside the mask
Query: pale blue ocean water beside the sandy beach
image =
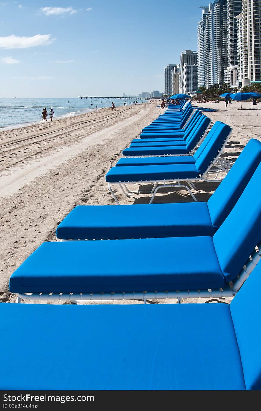
<svg viewBox="0 0 261 411"><path fill-rule="evenodd" d="M115 99L112 100L115 106L132 105L132 99ZM144 100L137 99L138 102ZM77 98L0 98L0 130L21 127L28 124L42 122L42 109L46 107L48 111L47 120L50 121L49 111L53 109L54 118L71 117L73 115L88 113L94 111L95 106L98 109L111 107L110 99L78 99ZM91 105L92 104L92 105Z"/></svg>

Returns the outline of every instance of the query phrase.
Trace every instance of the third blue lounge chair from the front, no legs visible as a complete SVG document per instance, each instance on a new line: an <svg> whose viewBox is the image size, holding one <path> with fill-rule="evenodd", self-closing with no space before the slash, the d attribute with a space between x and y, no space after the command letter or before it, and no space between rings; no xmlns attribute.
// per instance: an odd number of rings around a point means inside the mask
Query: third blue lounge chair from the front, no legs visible
<svg viewBox="0 0 261 411"><path fill-rule="evenodd" d="M77 205L58 225L56 236L62 240L213 236L260 162L261 142L251 139L208 203L137 204L118 208Z"/></svg>

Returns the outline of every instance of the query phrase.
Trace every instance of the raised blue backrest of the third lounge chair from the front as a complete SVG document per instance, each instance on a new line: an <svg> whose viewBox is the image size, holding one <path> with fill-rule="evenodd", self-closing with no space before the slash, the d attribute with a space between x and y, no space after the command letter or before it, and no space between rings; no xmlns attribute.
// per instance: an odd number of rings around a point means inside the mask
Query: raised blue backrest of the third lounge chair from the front
<svg viewBox="0 0 261 411"><path fill-rule="evenodd" d="M251 139L208 200L208 210L215 229L229 215L260 162L261 141Z"/></svg>

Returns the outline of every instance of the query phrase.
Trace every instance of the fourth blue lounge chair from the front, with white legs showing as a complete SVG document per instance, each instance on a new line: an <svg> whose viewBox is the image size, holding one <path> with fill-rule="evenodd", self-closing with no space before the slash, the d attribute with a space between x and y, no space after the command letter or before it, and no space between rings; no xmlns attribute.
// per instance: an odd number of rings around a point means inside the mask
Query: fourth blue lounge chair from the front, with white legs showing
<svg viewBox="0 0 261 411"><path fill-rule="evenodd" d="M155 194L160 188L174 188L180 189L185 188L189 194L192 196L194 201L196 198L192 194L189 187L195 189L193 182L204 180L209 181L207 178L208 173L217 174L224 171L225 168L216 163L216 160L224 150L226 141L229 139L231 134L231 127L228 125L216 122L212 127L205 140L199 146L197 150L198 158L194 164L170 164L162 166L129 166L129 167L112 167L111 170L106 174L106 182L108 182L109 190L115 199L116 203L119 204L113 190L111 189L111 184L119 185L122 192L129 196L129 194L139 194L139 192L131 192L127 189L126 184L128 183L138 183L142 184L145 182L154 182L151 194L152 198L150 203L152 203ZM154 147L155 148L155 147ZM149 148L149 150L152 150ZM157 148L159 149L159 148ZM162 147L161 150L167 151L169 147ZM177 150L178 148L176 148ZM146 150L146 147L143 148ZM180 148L180 151L182 148ZM212 166L215 166L215 170L210 170ZM226 169L228 171L228 169ZM166 182L175 182L175 184L166 185ZM159 182L163 182L163 185L159 185ZM187 182L187 185L181 185L180 182ZM129 192L129 194L127 192Z"/></svg>

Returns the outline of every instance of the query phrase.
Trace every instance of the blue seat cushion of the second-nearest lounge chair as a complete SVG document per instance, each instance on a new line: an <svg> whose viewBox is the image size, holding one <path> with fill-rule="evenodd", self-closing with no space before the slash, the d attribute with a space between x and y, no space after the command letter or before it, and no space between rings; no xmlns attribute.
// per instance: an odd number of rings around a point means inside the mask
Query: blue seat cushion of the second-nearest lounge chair
<svg viewBox="0 0 261 411"><path fill-rule="evenodd" d="M9 289L100 293L217 289L224 284L212 237L175 237L44 242L12 274Z"/></svg>

